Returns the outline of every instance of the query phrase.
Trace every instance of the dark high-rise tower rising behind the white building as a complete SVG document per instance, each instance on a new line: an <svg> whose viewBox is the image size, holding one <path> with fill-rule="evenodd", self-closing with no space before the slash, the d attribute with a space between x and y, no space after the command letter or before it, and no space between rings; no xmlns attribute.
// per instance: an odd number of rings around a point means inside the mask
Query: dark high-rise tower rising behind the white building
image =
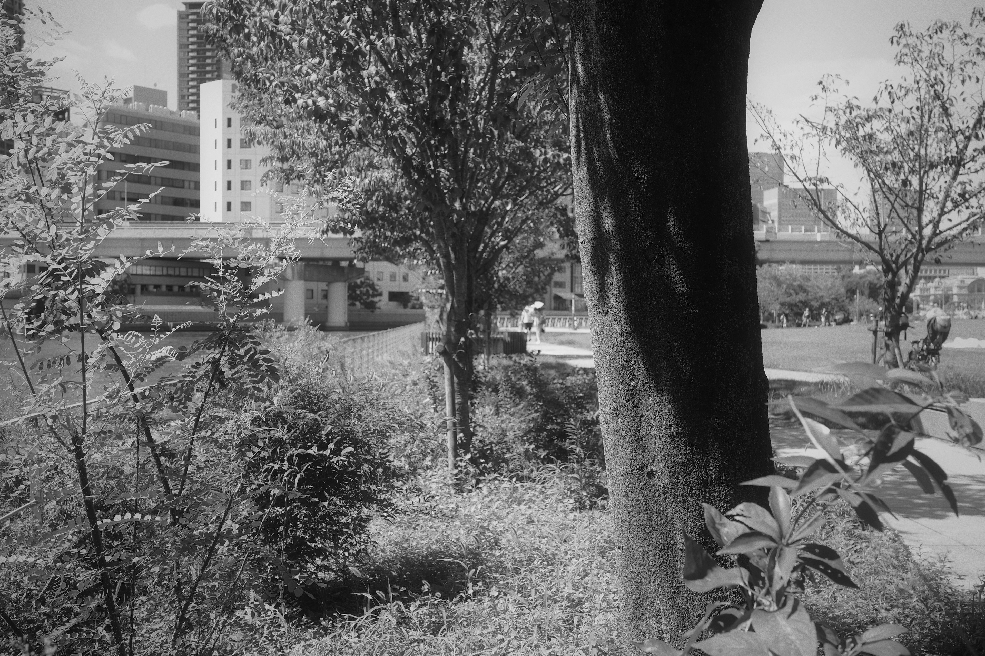
<svg viewBox="0 0 985 656"><path fill-rule="evenodd" d="M185 2L178 10L178 111L201 110L199 87L224 77L228 68L202 32L204 2Z"/></svg>

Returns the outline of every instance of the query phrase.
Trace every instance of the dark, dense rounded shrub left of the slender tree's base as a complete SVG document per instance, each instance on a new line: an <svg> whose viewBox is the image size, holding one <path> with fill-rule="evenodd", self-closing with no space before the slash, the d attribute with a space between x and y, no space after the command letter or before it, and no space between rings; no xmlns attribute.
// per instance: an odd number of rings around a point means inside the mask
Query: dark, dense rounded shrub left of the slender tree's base
<svg viewBox="0 0 985 656"><path fill-rule="evenodd" d="M260 430L244 441L243 475L250 492L269 486L255 502L266 514L260 542L307 582L364 553L366 526L393 488L387 429L395 419L375 394L343 392L316 370L283 379L275 403L253 419Z"/></svg>

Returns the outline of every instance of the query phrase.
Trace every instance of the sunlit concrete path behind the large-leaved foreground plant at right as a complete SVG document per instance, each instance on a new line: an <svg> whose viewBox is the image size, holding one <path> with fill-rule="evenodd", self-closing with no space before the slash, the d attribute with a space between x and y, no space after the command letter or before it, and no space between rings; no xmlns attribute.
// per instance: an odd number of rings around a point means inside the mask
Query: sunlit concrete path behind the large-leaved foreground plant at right
<svg viewBox="0 0 985 656"><path fill-rule="evenodd" d="M847 431L832 431L850 435ZM777 455L822 457L811 447L804 429L792 422L770 421L770 437ZM842 441L843 444L847 440ZM895 529L914 553L944 556L950 561L954 582L974 588L985 574L985 459L976 453L934 439L918 439L916 448L934 459L945 473L957 498L954 516L940 493L924 494L913 477L897 468L889 472L879 496L895 513L883 520Z"/></svg>

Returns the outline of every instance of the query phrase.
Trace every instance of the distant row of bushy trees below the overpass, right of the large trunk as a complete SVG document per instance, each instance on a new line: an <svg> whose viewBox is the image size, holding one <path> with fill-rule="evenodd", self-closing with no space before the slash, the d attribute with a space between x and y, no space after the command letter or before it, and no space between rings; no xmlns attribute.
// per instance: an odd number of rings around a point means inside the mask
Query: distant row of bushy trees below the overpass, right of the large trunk
<svg viewBox="0 0 985 656"><path fill-rule="evenodd" d="M869 268L854 272L838 268L831 273L813 273L798 267L765 265L755 272L762 321L776 322L786 313L800 317L804 309L817 315L845 312L853 319L856 312L865 316L876 313L883 294L883 273Z"/></svg>

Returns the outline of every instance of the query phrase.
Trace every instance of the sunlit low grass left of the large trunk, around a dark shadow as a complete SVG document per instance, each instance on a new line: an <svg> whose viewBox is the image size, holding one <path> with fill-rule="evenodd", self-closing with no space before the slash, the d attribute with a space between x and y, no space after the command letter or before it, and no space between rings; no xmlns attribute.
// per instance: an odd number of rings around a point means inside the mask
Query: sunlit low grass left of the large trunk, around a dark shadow
<svg viewBox="0 0 985 656"><path fill-rule="evenodd" d="M363 614L288 653L573 656L616 630L609 515L573 511L558 479L433 484L373 531Z"/></svg>

